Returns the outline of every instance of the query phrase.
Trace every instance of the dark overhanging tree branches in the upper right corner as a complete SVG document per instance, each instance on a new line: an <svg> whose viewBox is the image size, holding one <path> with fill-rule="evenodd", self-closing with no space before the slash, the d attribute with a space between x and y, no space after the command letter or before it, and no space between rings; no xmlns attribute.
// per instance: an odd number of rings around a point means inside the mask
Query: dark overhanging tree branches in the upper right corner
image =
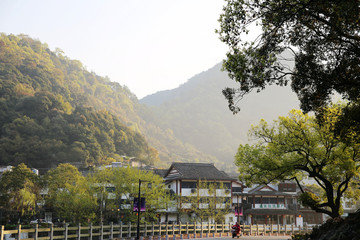
<svg viewBox="0 0 360 240"><path fill-rule="evenodd" d="M304 111L325 106L334 91L357 102L359 14L358 0L227 0L218 33L230 48L223 67L239 83L237 89L223 90L229 108L238 112L236 104L245 94L286 85L288 76ZM256 25L262 33L244 41ZM285 50L291 57L283 58ZM284 62L293 60L295 68L290 69Z"/></svg>

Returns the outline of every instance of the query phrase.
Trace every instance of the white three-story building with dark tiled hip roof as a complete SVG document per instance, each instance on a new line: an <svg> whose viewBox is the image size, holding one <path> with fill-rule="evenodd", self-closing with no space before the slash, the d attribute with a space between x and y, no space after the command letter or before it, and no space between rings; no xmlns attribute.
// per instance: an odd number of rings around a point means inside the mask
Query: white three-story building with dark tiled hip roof
<svg viewBox="0 0 360 240"><path fill-rule="evenodd" d="M224 211L225 223L233 222L232 183L236 180L209 163L173 163L163 176L167 188L176 195L172 207L162 214L162 222L197 221L195 209ZM211 191L211 187L213 190ZM212 204L214 203L214 204ZM204 221L204 220L203 220ZM205 222L214 219L207 219Z"/></svg>

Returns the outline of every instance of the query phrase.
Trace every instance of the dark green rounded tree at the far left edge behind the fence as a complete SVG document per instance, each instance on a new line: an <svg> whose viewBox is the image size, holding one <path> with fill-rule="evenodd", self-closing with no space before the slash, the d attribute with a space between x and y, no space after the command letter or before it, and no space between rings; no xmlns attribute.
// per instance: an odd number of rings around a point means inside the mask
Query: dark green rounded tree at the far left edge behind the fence
<svg viewBox="0 0 360 240"><path fill-rule="evenodd" d="M1 206L29 219L41 200L40 179L24 163L5 171L0 179Z"/></svg>

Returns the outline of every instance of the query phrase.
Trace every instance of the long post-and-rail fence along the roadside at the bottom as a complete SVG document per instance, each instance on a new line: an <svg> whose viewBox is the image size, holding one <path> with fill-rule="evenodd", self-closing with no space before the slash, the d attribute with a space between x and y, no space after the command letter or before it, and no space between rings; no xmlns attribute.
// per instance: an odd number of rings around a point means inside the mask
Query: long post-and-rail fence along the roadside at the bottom
<svg viewBox="0 0 360 240"><path fill-rule="evenodd" d="M141 224L139 226L141 238L161 239L185 239L203 237L230 236L230 224ZM310 227L296 227L294 225L242 225L244 235L292 235L308 233ZM105 239L131 239L136 237L137 225L100 225L76 227L47 227L7 230L1 226L0 240L105 240Z"/></svg>

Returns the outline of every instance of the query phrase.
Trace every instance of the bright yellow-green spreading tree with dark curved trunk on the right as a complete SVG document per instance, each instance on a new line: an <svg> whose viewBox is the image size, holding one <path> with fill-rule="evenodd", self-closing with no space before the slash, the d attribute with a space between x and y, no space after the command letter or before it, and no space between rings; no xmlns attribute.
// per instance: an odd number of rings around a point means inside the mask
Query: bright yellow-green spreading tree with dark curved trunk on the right
<svg viewBox="0 0 360 240"><path fill-rule="evenodd" d="M360 144L350 139L344 142L335 134L341 114L340 106L332 106L323 108L318 119L292 110L272 126L261 120L250 130L258 142L240 145L236 154L240 180L251 185L295 179L299 184L307 177L321 188L322 195L304 192L302 203L333 218L340 216L342 198L358 199L360 194Z"/></svg>

